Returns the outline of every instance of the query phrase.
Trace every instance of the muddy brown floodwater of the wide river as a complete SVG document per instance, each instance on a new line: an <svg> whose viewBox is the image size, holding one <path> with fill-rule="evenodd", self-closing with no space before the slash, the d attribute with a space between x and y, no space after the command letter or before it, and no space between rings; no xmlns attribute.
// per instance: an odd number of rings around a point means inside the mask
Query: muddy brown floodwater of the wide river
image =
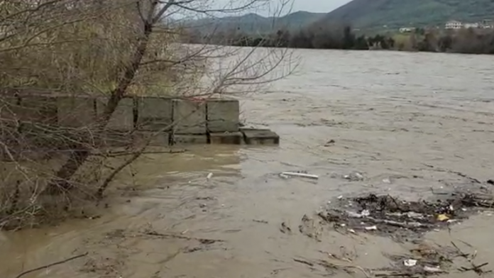
<svg viewBox="0 0 494 278"><path fill-rule="evenodd" d="M136 179L124 173L114 184L117 197L101 217L0 233L0 277L84 252L23 277L324 277L327 269L294 259L328 253L363 268L385 267L384 254L404 252L406 244L330 228L317 241L298 233L300 219L337 196L373 191L419 199L464 179L453 172L494 178L494 57L297 54L295 74L242 99L246 123L275 130L279 147L208 145L148 155L133 166ZM278 176L287 170L319 180ZM341 178L354 171L366 179ZM282 223L292 233L282 233ZM481 213L425 239L463 240L478 260L492 263L493 233L494 216ZM366 277L358 269L331 275Z"/></svg>

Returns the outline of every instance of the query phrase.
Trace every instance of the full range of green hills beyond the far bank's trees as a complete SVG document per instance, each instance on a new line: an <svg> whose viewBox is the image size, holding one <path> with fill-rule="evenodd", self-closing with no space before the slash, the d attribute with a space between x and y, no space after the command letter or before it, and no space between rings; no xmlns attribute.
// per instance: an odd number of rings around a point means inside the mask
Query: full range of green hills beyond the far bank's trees
<svg viewBox="0 0 494 278"><path fill-rule="evenodd" d="M353 0L330 13L297 11L278 18L248 13L189 21L185 25L201 33L213 30L271 33L312 23L322 26L344 23L371 33L408 26L444 26L449 20L476 22L483 19L494 20L494 0Z"/></svg>

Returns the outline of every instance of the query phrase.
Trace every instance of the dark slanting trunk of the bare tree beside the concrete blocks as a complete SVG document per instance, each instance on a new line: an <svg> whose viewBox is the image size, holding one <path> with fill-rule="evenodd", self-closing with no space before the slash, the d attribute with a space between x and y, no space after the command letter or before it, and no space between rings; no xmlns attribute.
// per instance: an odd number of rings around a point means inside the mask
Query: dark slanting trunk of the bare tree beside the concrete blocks
<svg viewBox="0 0 494 278"><path fill-rule="evenodd" d="M111 91L110 99L106 103L103 115L99 118L97 124L97 132L103 130L109 122L111 115L114 113L116 106L119 105L121 99L125 96L128 86L131 84L136 72L139 69L143 56L148 48L149 37L153 32L153 24L146 22L143 28L143 35L138 40L138 47L134 52L131 64L125 69L124 76L121 77L118 86L114 91ZM71 189L70 179L77 172L91 154L91 150L83 144L73 146L73 151L70 157L55 174L55 178L48 184L48 192L55 194L61 191L69 191Z"/></svg>

